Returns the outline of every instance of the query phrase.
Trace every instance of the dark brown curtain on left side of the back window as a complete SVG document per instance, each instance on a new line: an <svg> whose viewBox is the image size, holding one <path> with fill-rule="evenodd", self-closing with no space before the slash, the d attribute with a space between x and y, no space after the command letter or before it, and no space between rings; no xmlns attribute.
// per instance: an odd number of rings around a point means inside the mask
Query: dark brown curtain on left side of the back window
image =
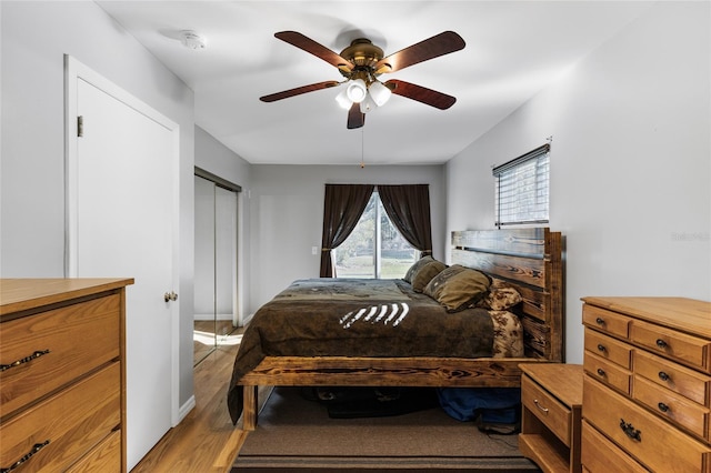
<svg viewBox="0 0 711 473"><path fill-rule="evenodd" d="M372 184L326 184L323 233L321 235L321 278L336 278L331 250L353 231L373 193Z"/></svg>

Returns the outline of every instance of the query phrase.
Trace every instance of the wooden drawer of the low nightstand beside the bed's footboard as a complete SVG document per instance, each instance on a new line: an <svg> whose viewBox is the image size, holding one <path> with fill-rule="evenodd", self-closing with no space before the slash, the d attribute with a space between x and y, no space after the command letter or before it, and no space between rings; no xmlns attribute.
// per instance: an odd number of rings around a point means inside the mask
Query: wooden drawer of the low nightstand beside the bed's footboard
<svg viewBox="0 0 711 473"><path fill-rule="evenodd" d="M521 379L521 402L551 432L570 446L571 412L528 375Z"/></svg>

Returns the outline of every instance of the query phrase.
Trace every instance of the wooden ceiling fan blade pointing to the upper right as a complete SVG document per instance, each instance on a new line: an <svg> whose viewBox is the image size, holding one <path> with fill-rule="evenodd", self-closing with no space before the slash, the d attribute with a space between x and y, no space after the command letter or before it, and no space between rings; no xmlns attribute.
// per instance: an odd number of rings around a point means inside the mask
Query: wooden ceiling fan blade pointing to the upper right
<svg viewBox="0 0 711 473"><path fill-rule="evenodd" d="M464 49L464 40L454 31L444 31L394 52L375 63L375 73L394 72L428 59Z"/></svg>

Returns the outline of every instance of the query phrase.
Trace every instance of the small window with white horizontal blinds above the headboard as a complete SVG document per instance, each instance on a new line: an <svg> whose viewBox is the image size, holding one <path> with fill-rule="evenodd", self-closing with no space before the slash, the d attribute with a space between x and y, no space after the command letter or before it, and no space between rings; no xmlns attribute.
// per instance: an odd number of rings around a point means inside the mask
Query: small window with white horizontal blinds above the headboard
<svg viewBox="0 0 711 473"><path fill-rule="evenodd" d="M548 222L549 154L543 144L493 169L497 227Z"/></svg>

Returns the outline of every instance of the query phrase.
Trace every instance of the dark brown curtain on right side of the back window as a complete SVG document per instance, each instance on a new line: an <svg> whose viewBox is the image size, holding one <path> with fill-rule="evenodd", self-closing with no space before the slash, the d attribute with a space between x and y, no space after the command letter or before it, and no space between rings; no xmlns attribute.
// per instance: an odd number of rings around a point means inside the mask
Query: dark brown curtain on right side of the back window
<svg viewBox="0 0 711 473"><path fill-rule="evenodd" d="M402 236L420 250L421 256L432 254L429 185L378 185L378 194Z"/></svg>

